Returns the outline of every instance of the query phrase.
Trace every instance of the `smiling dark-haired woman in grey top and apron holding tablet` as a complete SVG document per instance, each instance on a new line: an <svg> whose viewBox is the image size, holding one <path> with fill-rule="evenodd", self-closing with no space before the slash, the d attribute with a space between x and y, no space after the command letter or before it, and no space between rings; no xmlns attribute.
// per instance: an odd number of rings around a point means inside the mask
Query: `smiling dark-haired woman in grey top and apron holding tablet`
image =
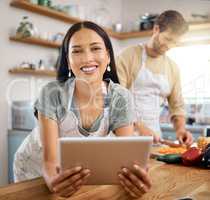
<svg viewBox="0 0 210 200"><path fill-rule="evenodd" d="M132 135L134 119L128 91L116 84L110 39L98 25L73 25L64 38L57 65L57 81L43 88L35 104L40 130L35 129L19 148L14 173L16 181L43 176L52 192L68 197L91 172L81 166L64 171L58 168L58 137L106 136L111 131L116 136ZM144 169L135 165L134 170L123 168L119 183L137 197L151 184Z"/></svg>

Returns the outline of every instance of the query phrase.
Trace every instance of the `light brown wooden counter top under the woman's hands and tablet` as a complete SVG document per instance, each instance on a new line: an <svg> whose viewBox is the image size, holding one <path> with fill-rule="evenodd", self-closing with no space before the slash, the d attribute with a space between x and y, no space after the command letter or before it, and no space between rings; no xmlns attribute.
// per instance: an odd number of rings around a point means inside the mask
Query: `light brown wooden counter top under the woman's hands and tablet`
<svg viewBox="0 0 210 200"><path fill-rule="evenodd" d="M210 171L206 169L169 165L150 160L153 186L141 200L178 200L189 196L196 200L209 200ZM0 200L61 200L51 194L43 179L38 178L0 188ZM71 200L128 200L119 186L83 186Z"/></svg>

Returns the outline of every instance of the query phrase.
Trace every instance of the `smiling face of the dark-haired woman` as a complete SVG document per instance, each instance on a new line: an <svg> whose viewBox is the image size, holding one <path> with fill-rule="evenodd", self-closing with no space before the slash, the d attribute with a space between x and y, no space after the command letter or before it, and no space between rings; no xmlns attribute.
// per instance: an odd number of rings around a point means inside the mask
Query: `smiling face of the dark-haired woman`
<svg viewBox="0 0 210 200"><path fill-rule="evenodd" d="M69 67L76 78L87 82L101 81L110 63L103 39L88 28L82 28L71 37L68 56Z"/></svg>

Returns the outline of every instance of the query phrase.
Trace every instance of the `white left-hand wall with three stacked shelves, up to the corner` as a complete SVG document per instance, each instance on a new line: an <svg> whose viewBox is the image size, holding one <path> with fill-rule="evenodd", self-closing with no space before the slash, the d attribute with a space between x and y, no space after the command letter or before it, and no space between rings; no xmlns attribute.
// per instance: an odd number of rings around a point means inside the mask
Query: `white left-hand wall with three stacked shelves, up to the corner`
<svg viewBox="0 0 210 200"><path fill-rule="evenodd" d="M11 126L10 102L12 100L35 100L42 85L52 80L50 78L11 75L8 73L8 70L22 61L37 62L40 58L55 60L58 53L56 49L9 41L9 35L14 33L14 30L24 15L29 16L30 20L36 25L40 32L45 34L65 32L69 28L68 24L61 21L10 7L9 2L10 0L0 1L0 186L7 184L7 130ZM55 3L56 2L65 4L69 1L57 0ZM100 1L97 0L89 0L88 3L85 0L71 2L80 3L80 5L83 6L81 12L89 8L89 12L86 13L85 17L91 17L91 12L94 10L94 7L88 7L88 5L95 5L96 8L101 6L101 4L99 4ZM118 9L121 9L120 6L118 6L121 5L121 0L106 3L111 10L112 20L118 19L119 15L121 15L118 11ZM113 44L115 51L118 51L118 41L113 40Z"/></svg>

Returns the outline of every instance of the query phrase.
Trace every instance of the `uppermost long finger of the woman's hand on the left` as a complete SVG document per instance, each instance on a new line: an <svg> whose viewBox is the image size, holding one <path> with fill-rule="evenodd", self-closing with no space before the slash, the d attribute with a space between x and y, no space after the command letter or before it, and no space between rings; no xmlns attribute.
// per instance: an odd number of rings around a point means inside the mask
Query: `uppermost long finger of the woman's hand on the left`
<svg viewBox="0 0 210 200"><path fill-rule="evenodd" d="M58 174L54 180L52 181L52 186L55 186L57 184L59 184L60 182L62 182L63 180L65 180L66 178L68 178L69 176L75 174L75 173L78 173L79 171L82 170L82 167L81 166L78 166L78 167L74 167L74 168L71 168L71 169L67 169L67 170L64 170L62 173Z"/></svg>

